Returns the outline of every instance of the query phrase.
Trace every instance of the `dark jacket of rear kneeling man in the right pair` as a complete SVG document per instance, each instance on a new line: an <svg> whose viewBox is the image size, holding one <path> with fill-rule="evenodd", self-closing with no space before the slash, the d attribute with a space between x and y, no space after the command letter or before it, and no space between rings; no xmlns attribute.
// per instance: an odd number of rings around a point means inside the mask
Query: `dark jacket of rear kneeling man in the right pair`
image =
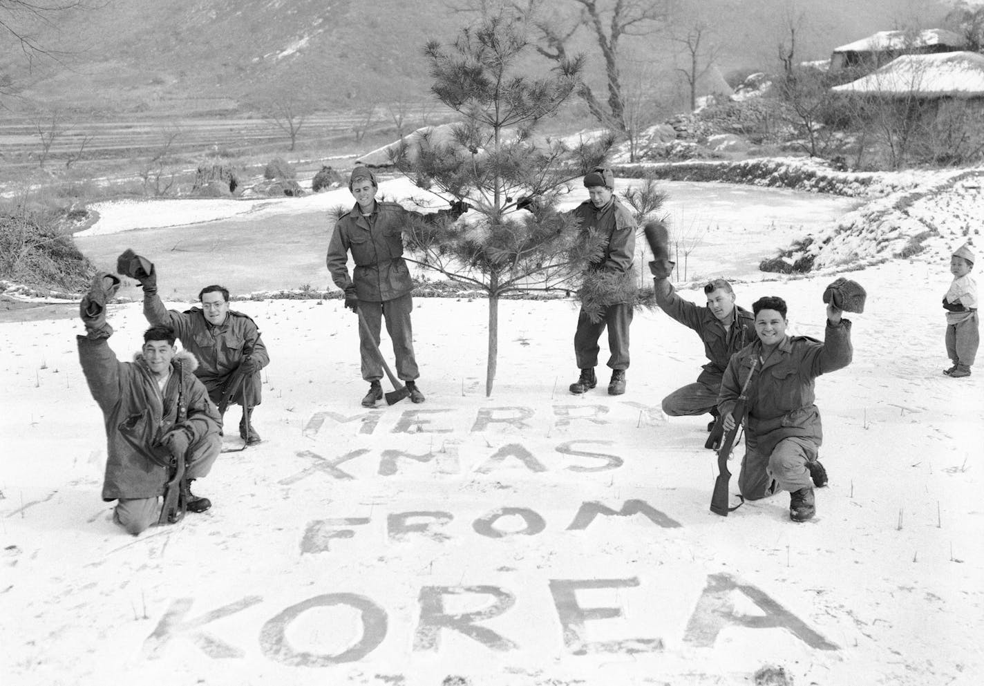
<svg viewBox="0 0 984 686"><path fill-rule="evenodd" d="M654 279L653 283L659 308L680 324L696 331L704 342L704 354L710 361L697 377L698 382L712 388L719 387L731 355L757 340L755 317L735 305L734 321L725 329L709 308L680 297L669 280Z"/></svg>

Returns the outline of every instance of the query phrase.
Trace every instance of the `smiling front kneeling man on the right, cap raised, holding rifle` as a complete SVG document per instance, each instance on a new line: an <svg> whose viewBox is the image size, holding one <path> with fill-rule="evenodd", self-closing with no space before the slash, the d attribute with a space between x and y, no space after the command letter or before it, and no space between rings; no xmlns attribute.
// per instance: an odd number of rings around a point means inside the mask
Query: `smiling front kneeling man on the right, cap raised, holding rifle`
<svg viewBox="0 0 984 686"><path fill-rule="evenodd" d="M820 410L814 405L815 379L850 364L851 322L842 318L843 311L831 299L825 340L820 342L786 335L786 303L780 297L760 298L752 311L759 340L728 362L717 411L724 430L730 431L735 425L731 412L754 366L738 487L746 500L789 491L790 519L805 522L816 513L814 485L827 483L827 472L817 460L823 433Z"/></svg>

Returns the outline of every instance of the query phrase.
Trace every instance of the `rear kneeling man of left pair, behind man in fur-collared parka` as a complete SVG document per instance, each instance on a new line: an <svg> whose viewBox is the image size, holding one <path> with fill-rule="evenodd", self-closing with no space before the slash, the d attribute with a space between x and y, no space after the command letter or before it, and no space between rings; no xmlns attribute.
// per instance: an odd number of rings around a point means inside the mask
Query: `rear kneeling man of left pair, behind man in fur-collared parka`
<svg viewBox="0 0 984 686"><path fill-rule="evenodd" d="M252 414L262 401L260 370L270 364L270 355L256 323L248 315L229 309L229 291L220 285L202 288L198 294L201 308L178 312L164 307L157 295L157 275L150 261L128 250L120 255L117 268L143 286L144 316L151 326L173 329L182 346L198 358L195 376L205 384L213 403L221 401L233 373L245 375L246 383L230 402L243 407L240 437L247 445L259 443Z"/></svg>

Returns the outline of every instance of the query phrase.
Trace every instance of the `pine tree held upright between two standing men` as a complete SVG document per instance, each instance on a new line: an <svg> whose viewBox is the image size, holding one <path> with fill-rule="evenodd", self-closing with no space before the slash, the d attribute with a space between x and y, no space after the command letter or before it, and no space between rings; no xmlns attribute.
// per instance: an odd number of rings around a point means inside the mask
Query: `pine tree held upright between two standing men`
<svg viewBox="0 0 984 686"><path fill-rule="evenodd" d="M485 393L492 394L498 355L499 299L518 290L572 289L571 281L601 255L598 237L554 209L567 184L600 164L613 140L569 147L534 139L536 125L579 84L580 59L540 78L526 76L535 50L523 25L504 16L463 29L445 47L424 48L432 92L461 114L450 140L424 135L394 161L414 183L456 199L472 213L458 221L414 221L406 247L412 262L488 295Z"/></svg>

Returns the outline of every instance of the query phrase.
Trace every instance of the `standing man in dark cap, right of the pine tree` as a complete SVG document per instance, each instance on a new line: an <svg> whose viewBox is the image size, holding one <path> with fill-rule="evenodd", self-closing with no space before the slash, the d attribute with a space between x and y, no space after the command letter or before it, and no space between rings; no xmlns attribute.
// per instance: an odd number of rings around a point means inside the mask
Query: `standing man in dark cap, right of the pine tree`
<svg viewBox="0 0 984 686"><path fill-rule="evenodd" d="M615 175L611 169L596 167L584 176L589 200L571 211L571 216L581 219L582 230L597 231L607 238L602 243L602 254L597 262L588 266L590 276L617 280L625 277L632 280L633 252L636 249L636 219L622 203L614 197ZM627 281L628 282L628 281ZM634 290L634 287L633 287ZM629 326L632 324L631 293L623 293L626 299L603 303L603 311L598 321L593 322L584 312L578 316L578 329L574 335L574 353L581 369L580 378L571 384L571 393L581 395L597 386L594 367L598 364L598 339L608 328L608 366L612 376L608 383L608 394L620 396L625 393L625 370L629 368Z"/></svg>

